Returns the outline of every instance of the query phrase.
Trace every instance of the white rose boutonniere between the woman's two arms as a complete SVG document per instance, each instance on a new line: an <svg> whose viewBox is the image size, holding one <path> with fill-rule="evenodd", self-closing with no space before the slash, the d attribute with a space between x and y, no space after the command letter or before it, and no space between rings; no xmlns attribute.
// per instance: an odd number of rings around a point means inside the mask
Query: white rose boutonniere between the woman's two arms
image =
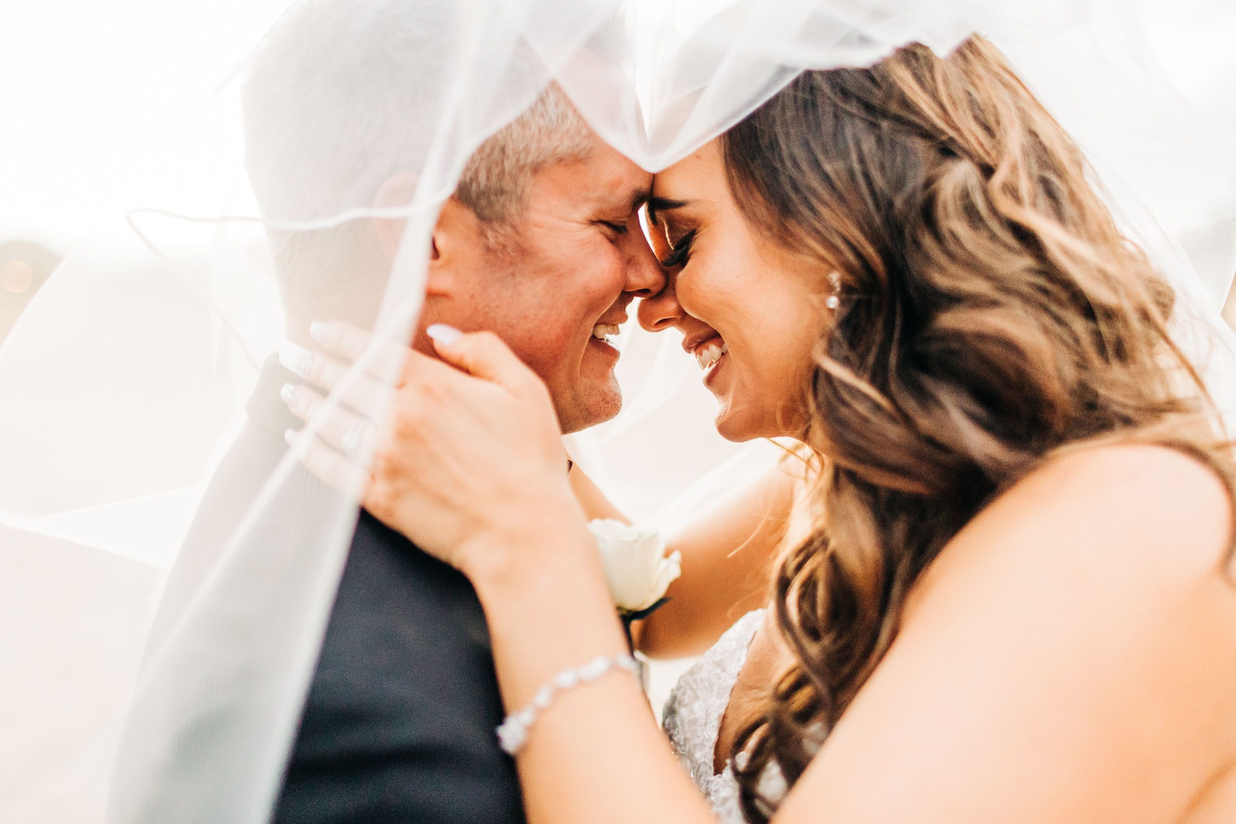
<svg viewBox="0 0 1236 824"><path fill-rule="evenodd" d="M618 520L593 520L606 579L614 605L627 620L646 618L665 602L665 591L682 574L682 553L665 557L660 532Z"/></svg>

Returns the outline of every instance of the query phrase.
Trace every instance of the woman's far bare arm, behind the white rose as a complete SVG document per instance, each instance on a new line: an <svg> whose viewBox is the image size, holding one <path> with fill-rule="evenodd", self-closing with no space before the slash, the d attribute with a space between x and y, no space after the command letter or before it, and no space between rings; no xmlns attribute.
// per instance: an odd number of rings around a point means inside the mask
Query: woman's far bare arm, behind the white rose
<svg viewBox="0 0 1236 824"><path fill-rule="evenodd" d="M789 458L666 535L666 551L682 553L682 574L666 592L669 603L632 628L641 652L700 655L739 616L764 605L771 561L803 486L795 463ZM571 489L590 519L628 520L578 466Z"/></svg>

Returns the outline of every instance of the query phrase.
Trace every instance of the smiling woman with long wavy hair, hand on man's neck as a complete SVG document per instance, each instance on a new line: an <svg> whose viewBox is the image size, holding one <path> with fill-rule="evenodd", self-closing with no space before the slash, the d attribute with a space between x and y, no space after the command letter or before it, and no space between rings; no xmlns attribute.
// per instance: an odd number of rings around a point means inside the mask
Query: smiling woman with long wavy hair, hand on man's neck
<svg viewBox="0 0 1236 824"><path fill-rule="evenodd" d="M722 435L796 439L810 482L770 581L789 476L684 547L639 637L693 651L766 602L671 700L698 787L618 672L552 408L496 337L409 356L363 493L476 586L529 820L1236 817L1231 456L1172 290L1001 54L808 70L658 174L649 219L640 322L684 334ZM336 484L346 429L302 444Z"/></svg>

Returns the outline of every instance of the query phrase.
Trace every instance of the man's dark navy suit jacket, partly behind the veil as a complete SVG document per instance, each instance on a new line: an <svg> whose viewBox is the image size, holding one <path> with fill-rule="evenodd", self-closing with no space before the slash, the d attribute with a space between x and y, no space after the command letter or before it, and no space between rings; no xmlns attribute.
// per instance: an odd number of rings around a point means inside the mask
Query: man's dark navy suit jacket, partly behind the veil
<svg viewBox="0 0 1236 824"><path fill-rule="evenodd" d="M279 399L289 382L267 362L248 423L211 478L227 493L219 499L256 489L286 453L284 430L299 427ZM297 472L305 477L289 488L310 494L316 481ZM211 508L215 498L208 489L187 549L226 531L230 514ZM472 586L362 511L273 820L523 824L514 763L496 734L502 715Z"/></svg>

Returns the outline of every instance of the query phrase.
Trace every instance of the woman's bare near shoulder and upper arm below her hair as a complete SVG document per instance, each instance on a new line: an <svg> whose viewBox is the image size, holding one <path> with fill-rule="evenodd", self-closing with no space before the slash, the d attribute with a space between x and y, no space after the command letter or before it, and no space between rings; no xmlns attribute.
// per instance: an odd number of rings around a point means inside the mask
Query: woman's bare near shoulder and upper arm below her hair
<svg viewBox="0 0 1236 824"><path fill-rule="evenodd" d="M1023 478L915 584L798 808L1199 820L1182 810L1236 759L1230 510L1219 473L1163 447L1078 450ZM1231 801L1214 797L1216 820Z"/></svg>

